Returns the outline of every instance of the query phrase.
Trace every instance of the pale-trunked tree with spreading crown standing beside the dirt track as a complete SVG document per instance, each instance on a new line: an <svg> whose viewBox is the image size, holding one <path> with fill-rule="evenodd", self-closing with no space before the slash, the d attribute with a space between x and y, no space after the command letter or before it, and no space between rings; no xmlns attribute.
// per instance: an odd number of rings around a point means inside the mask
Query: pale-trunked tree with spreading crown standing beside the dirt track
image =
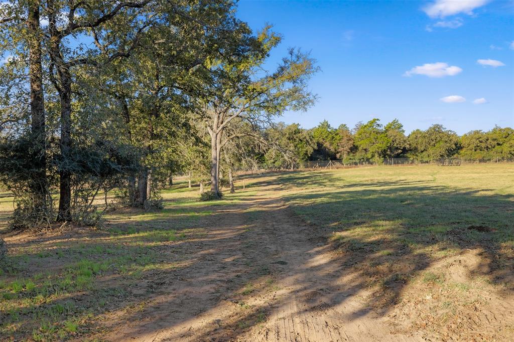
<svg viewBox="0 0 514 342"><path fill-rule="evenodd" d="M301 51L289 50L276 71L263 71L263 64L280 37L266 27L257 36L240 24L240 41L230 58L213 61L211 80L200 94L197 115L211 139L211 192L219 196L219 167L223 146L240 135L224 135L236 118L254 127L269 124L285 110L305 110L315 101L307 80L316 72L314 61Z"/></svg>

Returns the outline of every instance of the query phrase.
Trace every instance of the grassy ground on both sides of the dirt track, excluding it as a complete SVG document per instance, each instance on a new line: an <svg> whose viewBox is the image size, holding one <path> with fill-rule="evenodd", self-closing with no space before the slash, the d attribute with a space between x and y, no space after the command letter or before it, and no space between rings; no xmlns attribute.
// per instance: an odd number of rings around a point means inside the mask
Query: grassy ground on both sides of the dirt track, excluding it
<svg viewBox="0 0 514 342"><path fill-rule="evenodd" d="M222 201L199 202L197 188L176 184L163 192L162 211L114 212L101 231L3 232L11 265L0 274L0 339L98 333L99 315L144 306L131 298L135 283L194 263L188 242L205 237L219 210L258 197L285 201L332 244L346 270L359 275L354 286L376 291L376 310L391 311L409 295L438 296L419 316L451 321L486 300L486 288L514 290L512 164L289 172L246 176L245 191L236 185ZM12 198L0 194L2 223L10 210ZM243 212L258 231L266 213ZM466 274L453 272L456 257Z"/></svg>

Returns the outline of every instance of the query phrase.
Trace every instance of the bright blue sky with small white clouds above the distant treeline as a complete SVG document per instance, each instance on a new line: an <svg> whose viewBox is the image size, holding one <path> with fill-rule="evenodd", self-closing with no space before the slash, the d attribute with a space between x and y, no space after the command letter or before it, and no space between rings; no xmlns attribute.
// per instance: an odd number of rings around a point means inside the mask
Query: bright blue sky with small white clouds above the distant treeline
<svg viewBox="0 0 514 342"><path fill-rule="evenodd" d="M268 67L290 46L318 61L310 82L318 103L285 113L286 123L397 118L407 132L440 123L458 134L514 127L514 1L243 0L238 17L283 35Z"/></svg>

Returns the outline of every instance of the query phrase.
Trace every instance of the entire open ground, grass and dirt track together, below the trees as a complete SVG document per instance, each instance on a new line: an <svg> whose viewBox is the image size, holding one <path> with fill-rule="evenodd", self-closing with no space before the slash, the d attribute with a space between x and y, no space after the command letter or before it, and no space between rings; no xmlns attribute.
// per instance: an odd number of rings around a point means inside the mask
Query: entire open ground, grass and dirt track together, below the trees
<svg viewBox="0 0 514 342"><path fill-rule="evenodd" d="M243 189L243 179L245 188ZM239 177L2 233L0 340L514 340L514 165ZM12 210L0 196L1 224Z"/></svg>

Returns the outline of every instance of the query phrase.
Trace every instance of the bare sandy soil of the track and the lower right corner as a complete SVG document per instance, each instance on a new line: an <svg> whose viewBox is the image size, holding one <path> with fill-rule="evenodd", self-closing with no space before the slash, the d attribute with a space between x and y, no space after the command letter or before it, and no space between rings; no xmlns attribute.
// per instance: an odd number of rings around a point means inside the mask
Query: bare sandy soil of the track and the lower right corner
<svg viewBox="0 0 514 342"><path fill-rule="evenodd" d="M154 271L131 288L141 304L99 317L112 341L510 341L514 297L484 282L446 289L404 279L384 299L360 279L352 255L327 243L328 232L299 220L273 192L217 211L207 234L179 248L185 267ZM475 229L471 228L470 229ZM479 231L481 229L477 229ZM442 259L430 270L465 283L480 251ZM394 269L394 265L391 266ZM384 270L387 271L387 270ZM397 272L396 270L395 272ZM400 286L401 285L401 286ZM398 290L399 292L400 290ZM121 308L121 306L120 306Z"/></svg>

